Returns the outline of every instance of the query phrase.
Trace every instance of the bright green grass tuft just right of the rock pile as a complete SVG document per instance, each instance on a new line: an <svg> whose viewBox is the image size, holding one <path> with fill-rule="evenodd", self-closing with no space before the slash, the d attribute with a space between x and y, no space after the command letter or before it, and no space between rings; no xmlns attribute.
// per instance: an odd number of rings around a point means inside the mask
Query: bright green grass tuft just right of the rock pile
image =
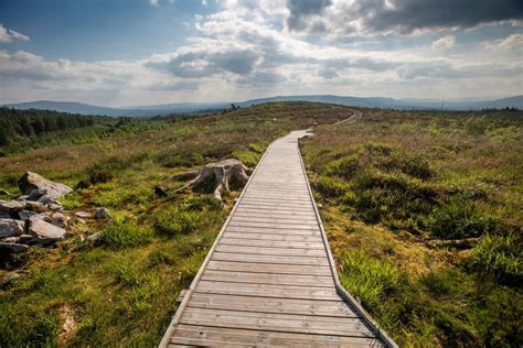
<svg viewBox="0 0 523 348"><path fill-rule="evenodd" d="M151 231L128 218L117 220L102 231L104 244L109 249L138 247L150 241Z"/></svg>

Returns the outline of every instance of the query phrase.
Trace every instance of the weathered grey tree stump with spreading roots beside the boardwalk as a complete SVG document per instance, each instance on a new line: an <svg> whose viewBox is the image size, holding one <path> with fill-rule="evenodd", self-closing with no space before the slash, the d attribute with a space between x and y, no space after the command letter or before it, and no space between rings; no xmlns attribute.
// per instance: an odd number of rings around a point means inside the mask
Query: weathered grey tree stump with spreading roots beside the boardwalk
<svg viewBox="0 0 523 348"><path fill-rule="evenodd" d="M245 185L248 181L248 174L252 170L245 166L241 161L235 159L223 160L216 163L209 163L195 173L195 177L191 180L186 185L177 189L182 191L189 186L198 186L207 180L213 180L215 188L213 196L216 199L222 200L222 192L230 192L230 184L232 181L237 181L239 184Z"/></svg>

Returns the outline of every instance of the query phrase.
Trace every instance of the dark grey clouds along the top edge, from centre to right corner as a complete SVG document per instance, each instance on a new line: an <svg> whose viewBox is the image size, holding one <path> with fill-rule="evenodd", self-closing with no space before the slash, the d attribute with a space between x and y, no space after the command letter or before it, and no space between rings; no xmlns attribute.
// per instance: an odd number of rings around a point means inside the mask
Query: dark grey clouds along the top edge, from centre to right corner
<svg viewBox="0 0 523 348"><path fill-rule="evenodd" d="M324 12L324 1L288 1L290 15L289 28L308 29L303 18ZM474 28L481 23L523 19L523 1L521 0L392 0L392 7L385 0L355 1L352 4L331 7L330 29L342 29L350 33L362 31L367 34L386 33L389 31L410 34L415 30L440 28ZM353 26L359 21L361 28ZM352 23L351 23L352 22Z"/></svg>

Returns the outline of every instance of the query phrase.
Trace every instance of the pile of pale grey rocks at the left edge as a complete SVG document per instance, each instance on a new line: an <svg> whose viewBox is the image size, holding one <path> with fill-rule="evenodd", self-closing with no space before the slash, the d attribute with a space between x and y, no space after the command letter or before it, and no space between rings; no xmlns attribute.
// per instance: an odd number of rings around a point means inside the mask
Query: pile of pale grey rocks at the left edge
<svg viewBox="0 0 523 348"><path fill-rule="evenodd" d="M71 217L57 199L73 189L32 172L26 172L18 186L21 195L0 200L0 253L20 253L29 246L52 246L66 238ZM107 218L108 211L100 208L94 217Z"/></svg>

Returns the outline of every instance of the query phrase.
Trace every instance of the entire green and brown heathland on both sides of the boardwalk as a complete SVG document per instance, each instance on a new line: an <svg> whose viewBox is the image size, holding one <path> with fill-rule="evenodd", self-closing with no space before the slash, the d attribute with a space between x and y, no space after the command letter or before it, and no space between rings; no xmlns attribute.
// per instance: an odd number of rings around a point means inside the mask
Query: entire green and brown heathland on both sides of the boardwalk
<svg viewBox="0 0 523 348"><path fill-rule="evenodd" d="M0 188L36 172L75 187L66 210L111 218L73 219L55 248L1 260L0 346L157 345L241 189L223 202L205 185L175 192L183 174L230 157L253 167L270 141L311 127L301 151L341 281L387 333L401 346L521 346L523 115L362 111L341 124L351 109L310 102L21 112L0 146Z"/></svg>

